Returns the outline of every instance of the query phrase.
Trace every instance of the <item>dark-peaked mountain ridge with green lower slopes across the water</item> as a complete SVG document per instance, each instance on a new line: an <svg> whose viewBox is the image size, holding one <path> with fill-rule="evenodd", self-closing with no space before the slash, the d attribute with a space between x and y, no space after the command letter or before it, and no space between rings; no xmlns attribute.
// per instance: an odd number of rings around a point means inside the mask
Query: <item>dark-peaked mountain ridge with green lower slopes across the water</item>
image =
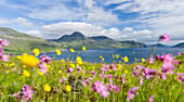
<svg viewBox="0 0 184 102"><path fill-rule="evenodd" d="M86 37L79 31L71 35L64 35L58 39L48 39L48 41L55 41L64 43L64 48L81 49L86 44L88 49L109 49L109 48L145 48L146 44L135 41L118 41L106 36Z"/></svg>

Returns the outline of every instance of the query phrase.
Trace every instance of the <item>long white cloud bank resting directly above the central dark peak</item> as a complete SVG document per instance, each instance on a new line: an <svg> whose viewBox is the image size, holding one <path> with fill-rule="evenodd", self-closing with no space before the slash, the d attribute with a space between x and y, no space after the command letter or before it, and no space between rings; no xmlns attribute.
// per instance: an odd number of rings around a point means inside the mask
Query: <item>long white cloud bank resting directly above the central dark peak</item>
<svg viewBox="0 0 184 102"><path fill-rule="evenodd" d="M70 35L74 31L81 31L83 35L88 37L97 36L102 30L104 30L103 27L87 23L63 22L42 26L41 34L44 39L51 39L60 38L63 35Z"/></svg>

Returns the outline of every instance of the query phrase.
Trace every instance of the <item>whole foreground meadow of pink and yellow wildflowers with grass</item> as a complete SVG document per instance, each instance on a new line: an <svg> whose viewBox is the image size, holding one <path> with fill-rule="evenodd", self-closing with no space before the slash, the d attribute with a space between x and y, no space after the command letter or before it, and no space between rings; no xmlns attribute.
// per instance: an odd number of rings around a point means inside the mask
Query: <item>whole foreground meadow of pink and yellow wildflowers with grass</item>
<svg viewBox="0 0 184 102"><path fill-rule="evenodd" d="M169 38L165 34L158 42ZM128 56L113 55L122 61L94 64L82 62L80 54L75 62L45 54L38 59L39 49L34 49L35 55L10 56L4 46L9 41L0 40L0 102L184 102L184 54L180 52L152 56L154 47L142 63L128 64ZM62 55L61 50L55 52Z"/></svg>

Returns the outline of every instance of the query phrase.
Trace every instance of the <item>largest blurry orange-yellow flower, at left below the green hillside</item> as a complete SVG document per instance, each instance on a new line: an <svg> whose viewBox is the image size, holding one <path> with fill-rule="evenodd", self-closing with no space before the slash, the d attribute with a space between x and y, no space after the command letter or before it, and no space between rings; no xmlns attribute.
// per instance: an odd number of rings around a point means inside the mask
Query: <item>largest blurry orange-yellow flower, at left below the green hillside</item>
<svg viewBox="0 0 184 102"><path fill-rule="evenodd" d="M23 65L26 65L28 67L35 67L38 64L39 60L34 55L23 54L21 62Z"/></svg>

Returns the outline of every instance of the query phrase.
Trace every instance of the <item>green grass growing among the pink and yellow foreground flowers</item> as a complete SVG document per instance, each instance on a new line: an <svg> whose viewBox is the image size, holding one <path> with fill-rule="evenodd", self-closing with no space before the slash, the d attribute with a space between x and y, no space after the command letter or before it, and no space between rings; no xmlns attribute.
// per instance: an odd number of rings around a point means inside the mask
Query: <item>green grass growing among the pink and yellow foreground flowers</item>
<svg viewBox="0 0 184 102"><path fill-rule="evenodd" d="M183 56L178 56L179 61L182 60ZM70 64L75 64L74 72L66 73L66 71L71 67ZM136 65L147 66L149 68L156 68L160 71L162 62L155 61L154 64L149 64L149 62L145 63L134 63L134 64L126 64L126 63L115 63L116 67L119 67L119 64L122 68L118 71L109 71L106 72L105 75L113 75L113 82L120 87L118 92L109 91L110 94L107 98L101 97L100 93L92 90L91 86L97 79L101 82L109 84L108 77L102 79L98 74L102 74L101 67L103 67L102 63L93 64L93 63L83 63L81 64L82 71L78 73L77 63L76 62L60 62L60 61L51 61L49 64L49 71L47 74L42 76L38 74L39 67L24 68L22 66L22 62L17 60L15 56L11 56L9 62L0 63L0 101L1 102L15 102L16 98L13 98L13 93L17 93L22 90L24 85L28 85L31 87L31 90L35 90L30 102L126 102L128 91L130 88L140 87L136 92L139 95L135 95L132 102L145 102L149 100L150 95L154 97L154 102L182 102L184 101L184 97L182 91L184 91L183 84L176 79L176 74L167 75L167 80L163 80L161 77L155 75L150 79L146 79L143 76L143 85L140 86L140 79L136 76L132 76L133 67ZM175 65L178 68L174 69L175 73L184 73L184 67L180 63ZM18 74L18 67L21 74ZM61 68L63 67L63 68ZM16 71L15 71L16 69ZM26 69L30 73L29 77L23 75L23 71ZM82 81L88 79L92 74L90 72L95 72L95 77L90 80L89 85L86 87L82 86ZM60 72L60 73L58 73ZM62 72L62 73L61 73ZM89 73L88 73L89 72ZM126 75L126 84L122 84L120 77L122 74ZM60 82L60 79L67 78L65 84ZM43 90L43 86L49 84L52 88L50 92L45 92ZM70 85L73 91L67 92L65 87ZM77 86L77 87L76 87Z"/></svg>

